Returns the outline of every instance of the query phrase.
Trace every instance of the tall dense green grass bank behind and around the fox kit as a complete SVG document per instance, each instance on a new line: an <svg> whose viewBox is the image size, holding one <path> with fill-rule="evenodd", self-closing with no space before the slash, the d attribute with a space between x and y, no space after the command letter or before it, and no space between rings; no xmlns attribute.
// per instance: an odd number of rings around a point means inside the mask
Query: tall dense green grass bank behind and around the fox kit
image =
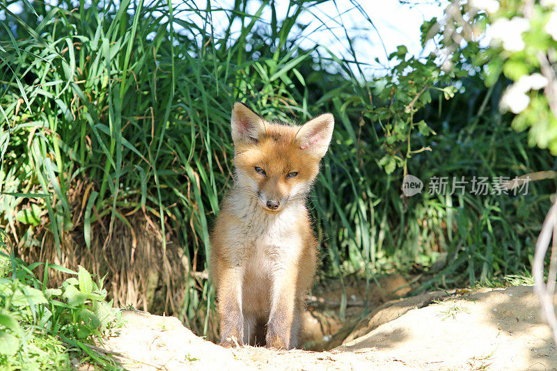
<svg viewBox="0 0 557 371"><path fill-rule="evenodd" d="M20 257L82 262L109 274L119 306L172 313L214 337L205 257L230 184L228 120L240 100L266 118L336 117L309 200L322 279L428 272L446 254L418 287L429 290L529 266L554 182L530 184L526 196L400 191L406 173L427 187L434 176L554 168L499 113L505 81L487 90L466 58L439 74L434 56L404 47L386 77L361 76L357 59L301 47L300 17L316 1L290 1L287 16L273 1L249 15L246 3L36 1L19 15L0 5L0 223ZM217 33L217 12L240 33Z"/></svg>

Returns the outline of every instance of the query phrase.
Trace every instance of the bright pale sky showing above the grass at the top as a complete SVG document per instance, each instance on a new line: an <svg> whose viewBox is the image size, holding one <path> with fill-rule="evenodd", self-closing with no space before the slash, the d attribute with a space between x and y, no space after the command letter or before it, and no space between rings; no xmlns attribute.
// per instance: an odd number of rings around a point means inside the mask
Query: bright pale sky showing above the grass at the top
<svg viewBox="0 0 557 371"><path fill-rule="evenodd" d="M277 0L278 13L285 17L288 10L288 2ZM198 5L205 8L205 1L196 1ZM212 0L214 5L221 8L231 8L232 0ZM255 13L259 1L252 0L248 11ZM312 47L322 45L334 52L334 54L345 57L350 56L349 43L344 30L340 29L343 24L348 29L350 38L354 38L354 51L360 62L368 63L369 72L372 74L384 74L386 72L386 56L395 52L398 45L405 45L408 51L415 56L425 55L432 52L433 45L428 45L424 51L420 43L420 26L425 20L432 17L441 19L444 8L448 1L444 0L410 0L401 3L398 0L337 0L326 1L314 6L313 13L303 13L299 21L308 24L308 27L299 38L299 45ZM361 8L358 8L361 6ZM222 17L224 17L222 15ZM270 20L270 11L262 14L263 19ZM219 30L219 24L226 24L226 19L214 17L215 30ZM327 29L329 26L332 30ZM233 24L232 30L239 33L240 24ZM375 62L379 58L379 64Z"/></svg>

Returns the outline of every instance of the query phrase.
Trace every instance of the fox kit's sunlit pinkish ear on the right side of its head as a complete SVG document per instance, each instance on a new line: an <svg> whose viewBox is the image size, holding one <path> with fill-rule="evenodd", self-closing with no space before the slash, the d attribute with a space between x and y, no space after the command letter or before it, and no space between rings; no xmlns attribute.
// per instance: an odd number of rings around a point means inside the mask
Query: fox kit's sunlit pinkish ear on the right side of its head
<svg viewBox="0 0 557 371"><path fill-rule="evenodd" d="M322 158L327 153L335 119L331 113L323 113L309 120L300 127L296 134L297 144L301 150L310 151L315 157Z"/></svg>

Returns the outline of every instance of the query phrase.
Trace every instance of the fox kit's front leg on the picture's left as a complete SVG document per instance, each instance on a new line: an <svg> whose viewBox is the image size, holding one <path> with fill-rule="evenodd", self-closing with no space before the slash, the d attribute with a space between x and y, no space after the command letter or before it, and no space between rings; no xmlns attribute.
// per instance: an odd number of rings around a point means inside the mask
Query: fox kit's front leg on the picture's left
<svg viewBox="0 0 557 371"><path fill-rule="evenodd" d="M242 315L242 267L219 267L217 299L221 320L221 345L244 345L244 316Z"/></svg>

